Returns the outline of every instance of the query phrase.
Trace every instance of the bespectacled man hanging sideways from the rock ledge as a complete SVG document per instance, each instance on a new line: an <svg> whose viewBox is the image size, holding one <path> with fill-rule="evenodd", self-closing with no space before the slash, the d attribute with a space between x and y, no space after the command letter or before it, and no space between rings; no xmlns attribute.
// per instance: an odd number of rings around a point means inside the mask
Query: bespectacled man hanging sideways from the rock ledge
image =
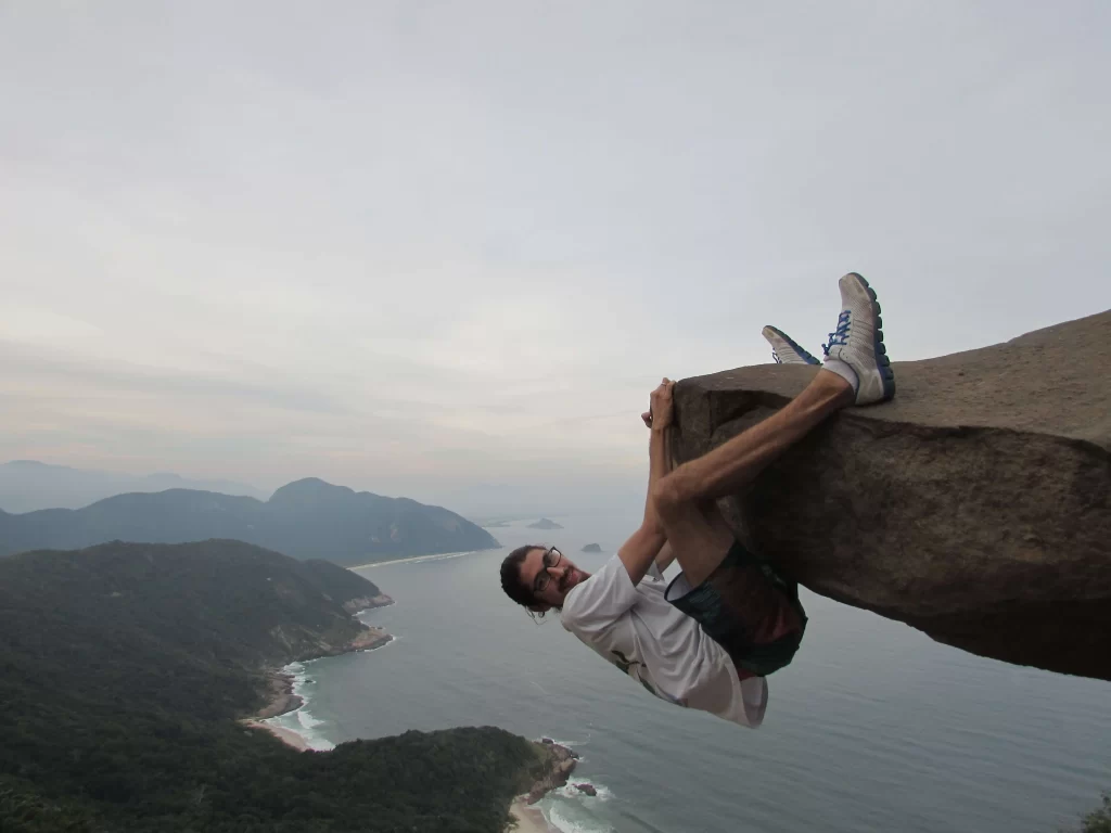
<svg viewBox="0 0 1111 833"><path fill-rule="evenodd" d="M830 414L895 392L875 292L859 274L840 281L841 315L824 367L782 410L672 470L673 382L642 414L651 431L644 520L590 575L557 548L522 546L501 565L506 593L563 628L659 697L745 726L763 721L765 678L791 662L807 626L798 585L749 552L717 500L753 480ZM775 361L818 364L781 330L764 328ZM678 559L667 586L661 571Z"/></svg>

